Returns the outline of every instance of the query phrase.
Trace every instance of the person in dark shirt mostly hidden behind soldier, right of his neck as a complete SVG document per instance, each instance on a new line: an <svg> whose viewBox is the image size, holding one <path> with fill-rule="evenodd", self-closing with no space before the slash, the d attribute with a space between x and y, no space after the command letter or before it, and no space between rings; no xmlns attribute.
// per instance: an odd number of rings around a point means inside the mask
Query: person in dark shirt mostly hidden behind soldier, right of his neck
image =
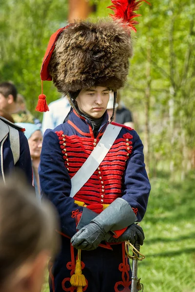
<svg viewBox="0 0 195 292"><path fill-rule="evenodd" d="M134 128L132 113L125 107L125 105L121 101L120 91L117 91L117 101L118 107L116 110L116 123L122 124L130 128Z"/></svg>

